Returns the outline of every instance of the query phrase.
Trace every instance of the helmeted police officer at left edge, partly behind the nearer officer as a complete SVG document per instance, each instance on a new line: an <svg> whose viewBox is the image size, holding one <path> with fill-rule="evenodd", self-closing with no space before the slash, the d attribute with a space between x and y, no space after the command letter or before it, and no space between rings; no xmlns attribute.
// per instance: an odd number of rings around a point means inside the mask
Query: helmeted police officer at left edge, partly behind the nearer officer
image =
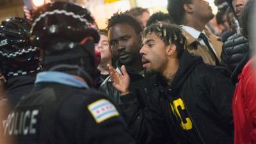
<svg viewBox="0 0 256 144"><path fill-rule="evenodd" d="M30 28L28 20L19 17L3 20L0 26L0 70L11 108L31 91L42 68L39 49L29 40Z"/></svg>

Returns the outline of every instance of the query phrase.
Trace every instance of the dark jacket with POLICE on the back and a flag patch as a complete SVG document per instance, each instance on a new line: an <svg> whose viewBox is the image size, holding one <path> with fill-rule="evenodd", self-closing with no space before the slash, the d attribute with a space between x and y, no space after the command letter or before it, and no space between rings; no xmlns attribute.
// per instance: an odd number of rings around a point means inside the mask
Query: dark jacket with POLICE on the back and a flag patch
<svg viewBox="0 0 256 144"><path fill-rule="evenodd" d="M36 83L10 113L4 136L4 143L12 138L17 143L40 144L134 143L102 93L45 82Z"/></svg>

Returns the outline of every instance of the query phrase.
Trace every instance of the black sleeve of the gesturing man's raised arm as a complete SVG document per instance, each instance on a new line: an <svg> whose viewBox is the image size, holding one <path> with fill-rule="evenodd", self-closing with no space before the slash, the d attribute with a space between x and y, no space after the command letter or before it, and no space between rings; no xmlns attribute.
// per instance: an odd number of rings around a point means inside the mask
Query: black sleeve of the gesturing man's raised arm
<svg viewBox="0 0 256 144"><path fill-rule="evenodd" d="M143 104L138 97L142 95L129 93L121 97L122 103L118 105L132 137L137 143L166 143L170 139L170 132L157 100L149 99L147 104L145 101Z"/></svg>

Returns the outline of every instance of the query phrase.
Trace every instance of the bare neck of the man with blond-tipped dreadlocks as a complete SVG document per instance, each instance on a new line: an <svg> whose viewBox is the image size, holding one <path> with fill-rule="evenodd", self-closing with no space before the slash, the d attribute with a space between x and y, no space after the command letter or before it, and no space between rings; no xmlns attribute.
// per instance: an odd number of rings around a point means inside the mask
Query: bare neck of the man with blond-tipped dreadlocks
<svg viewBox="0 0 256 144"><path fill-rule="evenodd" d="M168 61L166 69L163 71L162 75L166 79L166 83L170 86L172 84L173 78L179 68L179 60L173 59Z"/></svg>

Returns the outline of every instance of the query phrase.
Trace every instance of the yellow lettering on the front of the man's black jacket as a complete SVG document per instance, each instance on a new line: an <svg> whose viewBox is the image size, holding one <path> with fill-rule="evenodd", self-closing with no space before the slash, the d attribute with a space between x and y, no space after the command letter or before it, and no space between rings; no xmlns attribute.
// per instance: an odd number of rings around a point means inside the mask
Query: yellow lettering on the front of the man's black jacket
<svg viewBox="0 0 256 144"><path fill-rule="evenodd" d="M172 108L172 112L173 112L173 113L176 113L176 114L179 116L180 122L181 122L180 125L181 125L182 129L184 129L184 130L192 129L192 122L191 122L190 118L189 118L189 117L186 117L185 120L183 120L182 117L181 117L181 115L180 115L180 112L181 112L181 111L179 111L179 109L178 109L178 107L180 106L181 110L182 110L182 111L185 111L185 107L184 107L184 102L183 102L183 100L180 99L180 98L177 99L177 100L174 100L174 101L173 101L173 104L170 103L170 106L171 106L171 108ZM174 107L174 108L173 108L173 107ZM184 122L184 121L185 121L185 122Z"/></svg>

